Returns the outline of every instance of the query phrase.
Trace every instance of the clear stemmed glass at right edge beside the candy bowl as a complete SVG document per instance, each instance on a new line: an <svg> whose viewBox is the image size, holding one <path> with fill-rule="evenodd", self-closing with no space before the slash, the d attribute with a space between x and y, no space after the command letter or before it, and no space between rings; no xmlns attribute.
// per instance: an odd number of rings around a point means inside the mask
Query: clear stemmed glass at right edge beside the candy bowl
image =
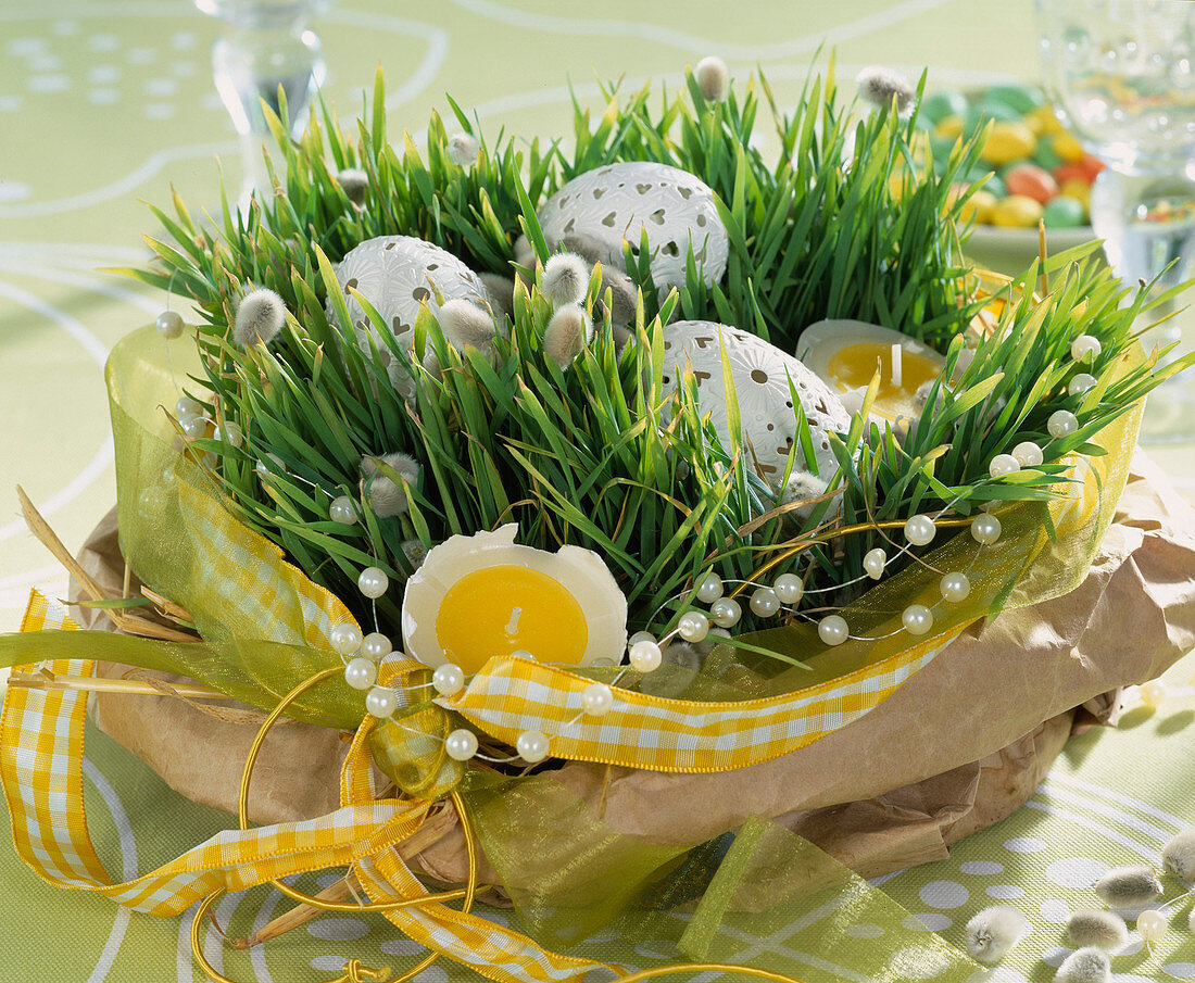
<svg viewBox="0 0 1195 983"><path fill-rule="evenodd" d="M1036 0L1047 92L1066 127L1108 168L1091 189L1091 225L1126 283L1159 290L1195 260L1195 4ZM1169 266L1169 270L1168 270ZM1181 340L1173 321L1147 344ZM1185 380L1150 399L1142 441L1195 435Z"/></svg>

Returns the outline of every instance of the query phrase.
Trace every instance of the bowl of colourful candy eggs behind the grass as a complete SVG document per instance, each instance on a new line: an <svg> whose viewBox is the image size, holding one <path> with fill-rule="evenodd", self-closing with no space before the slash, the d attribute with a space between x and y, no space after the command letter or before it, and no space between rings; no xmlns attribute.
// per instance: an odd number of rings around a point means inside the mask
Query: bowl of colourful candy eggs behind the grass
<svg viewBox="0 0 1195 983"><path fill-rule="evenodd" d="M1091 185L1103 164L1059 122L1044 93L1031 85L938 90L920 105L932 159L944 164L961 136L991 127L968 179L991 174L964 217L974 221L968 256L1001 272L1021 270L1040 251L1038 222L1049 253L1093 238Z"/></svg>

